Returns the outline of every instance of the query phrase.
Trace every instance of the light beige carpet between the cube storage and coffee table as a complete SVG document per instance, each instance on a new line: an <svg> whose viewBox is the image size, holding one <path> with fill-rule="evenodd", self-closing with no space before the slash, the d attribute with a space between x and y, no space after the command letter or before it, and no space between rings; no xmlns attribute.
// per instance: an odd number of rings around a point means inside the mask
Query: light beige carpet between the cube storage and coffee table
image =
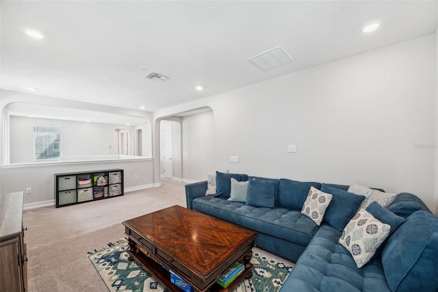
<svg viewBox="0 0 438 292"><path fill-rule="evenodd" d="M107 291L88 252L125 237L122 222L168 206L185 207L183 182L121 197L23 213L28 291Z"/></svg>

